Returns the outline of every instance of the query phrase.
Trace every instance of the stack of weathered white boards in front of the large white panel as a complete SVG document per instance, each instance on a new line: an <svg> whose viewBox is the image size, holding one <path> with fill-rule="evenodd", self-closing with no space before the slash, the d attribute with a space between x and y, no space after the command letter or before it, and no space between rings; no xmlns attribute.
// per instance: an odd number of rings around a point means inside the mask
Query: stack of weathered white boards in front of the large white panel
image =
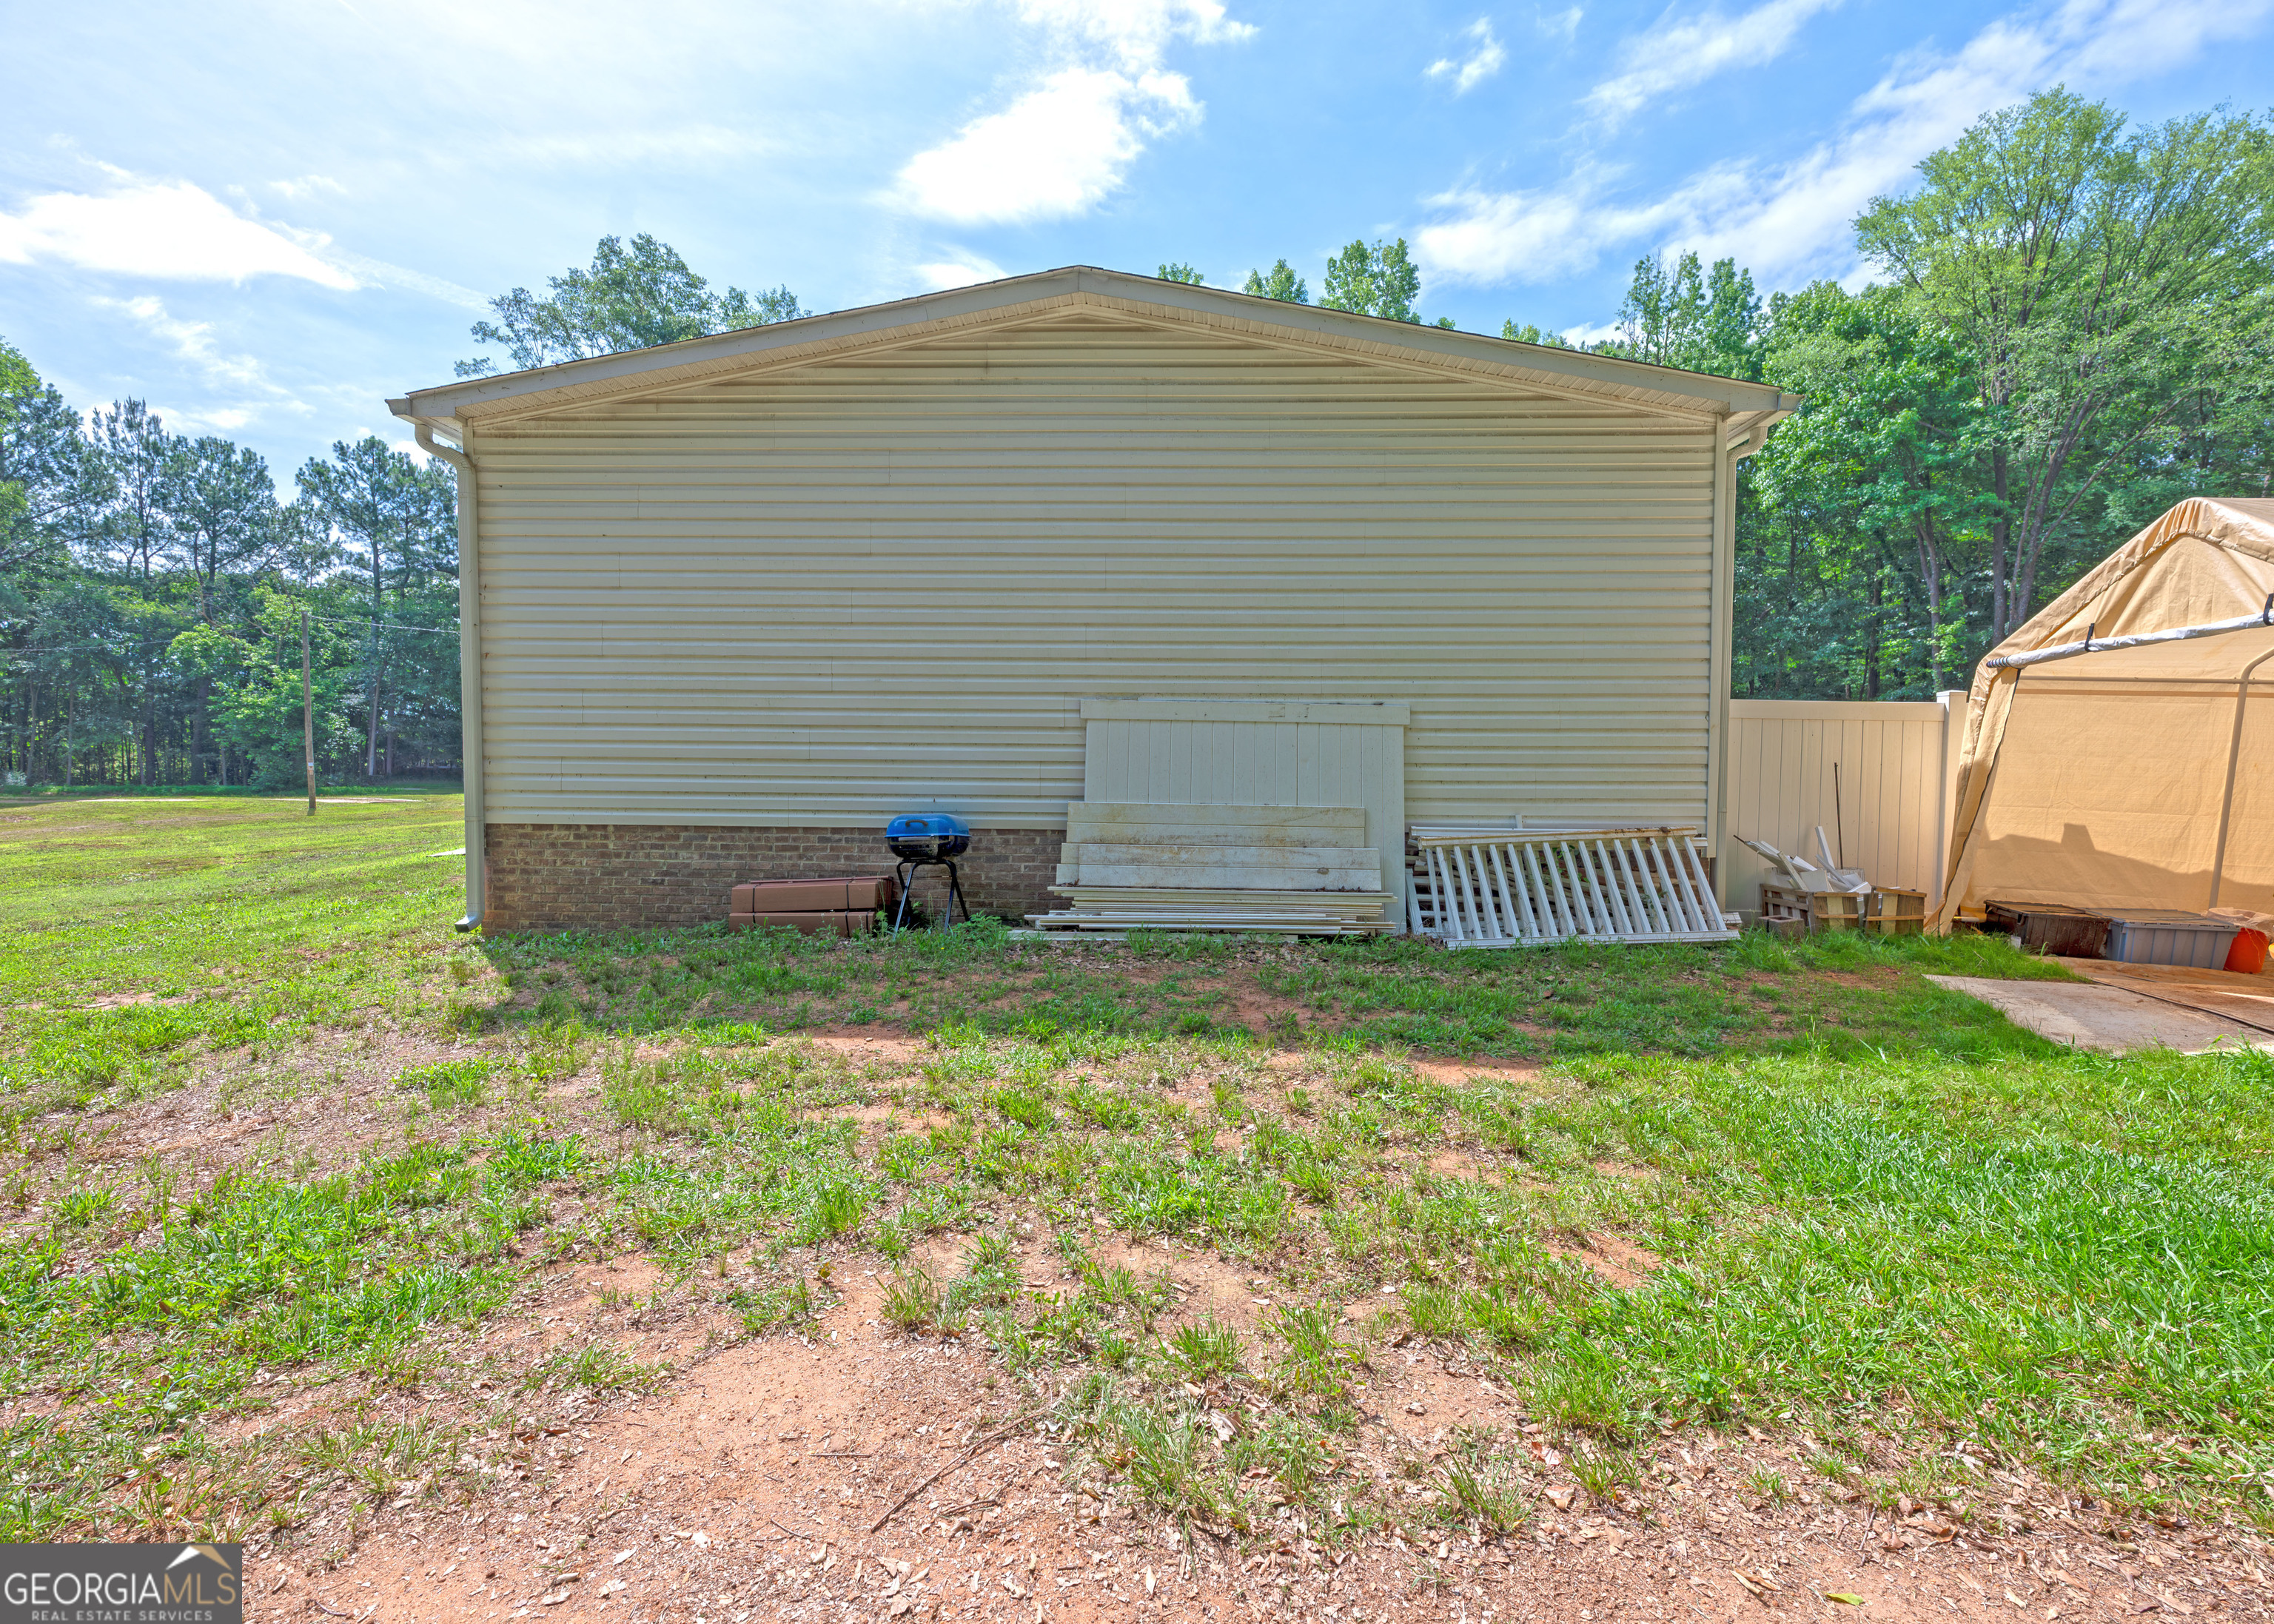
<svg viewBox="0 0 2274 1624"><path fill-rule="evenodd" d="M1383 857L1364 807L1233 807L1076 801L1057 885L1073 905L1046 930L1392 928Z"/></svg>

